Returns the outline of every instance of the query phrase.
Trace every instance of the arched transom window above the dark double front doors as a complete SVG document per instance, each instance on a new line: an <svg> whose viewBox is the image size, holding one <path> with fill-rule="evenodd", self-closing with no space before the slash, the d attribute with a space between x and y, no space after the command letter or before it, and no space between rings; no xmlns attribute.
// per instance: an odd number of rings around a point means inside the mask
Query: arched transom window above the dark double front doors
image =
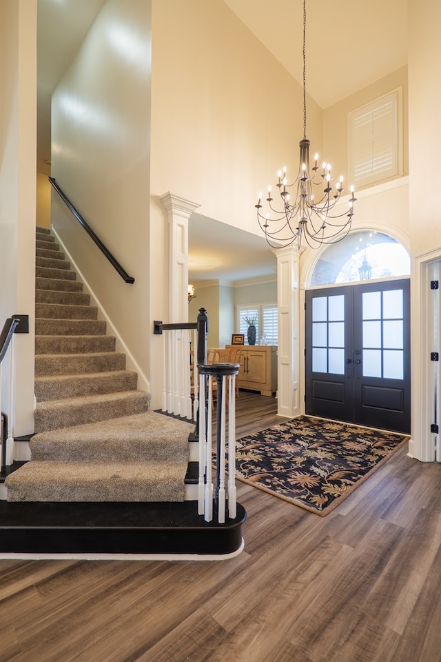
<svg viewBox="0 0 441 662"><path fill-rule="evenodd" d="M382 232L352 232L329 246L318 259L311 286L352 283L410 274L407 250Z"/></svg>

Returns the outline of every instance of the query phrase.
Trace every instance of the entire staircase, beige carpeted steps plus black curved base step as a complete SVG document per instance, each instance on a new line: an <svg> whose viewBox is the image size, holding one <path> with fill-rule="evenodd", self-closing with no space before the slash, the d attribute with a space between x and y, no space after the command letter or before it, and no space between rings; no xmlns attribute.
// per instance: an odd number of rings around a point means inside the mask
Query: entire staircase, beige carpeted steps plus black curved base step
<svg viewBox="0 0 441 662"><path fill-rule="evenodd" d="M198 514L194 426L149 410L64 257L37 228L37 434L6 479L0 558L238 554L245 509L223 524Z"/></svg>

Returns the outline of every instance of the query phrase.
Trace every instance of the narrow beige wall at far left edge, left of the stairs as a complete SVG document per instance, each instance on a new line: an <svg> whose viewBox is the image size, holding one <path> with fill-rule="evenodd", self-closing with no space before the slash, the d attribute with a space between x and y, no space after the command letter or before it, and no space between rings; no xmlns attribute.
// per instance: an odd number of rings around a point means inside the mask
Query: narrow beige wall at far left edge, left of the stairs
<svg viewBox="0 0 441 662"><path fill-rule="evenodd" d="M0 0L0 327L30 317L30 334L15 337L18 436L34 430L36 49L37 0Z"/></svg>

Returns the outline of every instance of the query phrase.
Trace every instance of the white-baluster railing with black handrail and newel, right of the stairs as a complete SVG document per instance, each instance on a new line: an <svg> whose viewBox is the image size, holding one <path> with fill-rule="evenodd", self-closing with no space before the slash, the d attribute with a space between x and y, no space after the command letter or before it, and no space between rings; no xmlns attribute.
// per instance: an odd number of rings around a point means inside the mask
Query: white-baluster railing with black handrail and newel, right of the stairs
<svg viewBox="0 0 441 662"><path fill-rule="evenodd" d="M238 363L207 361L208 316L201 308L196 323L154 322L163 334L162 411L196 421L198 442L198 514L207 522L235 519L236 375ZM216 434L213 392L216 386ZM216 441L216 443L214 443ZM228 480L226 474L228 472Z"/></svg>

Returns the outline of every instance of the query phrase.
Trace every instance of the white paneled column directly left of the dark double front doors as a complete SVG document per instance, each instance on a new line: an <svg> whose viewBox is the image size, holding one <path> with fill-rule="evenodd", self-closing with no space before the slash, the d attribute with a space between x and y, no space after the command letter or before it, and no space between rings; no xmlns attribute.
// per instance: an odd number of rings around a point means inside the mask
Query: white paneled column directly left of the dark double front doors
<svg viewBox="0 0 441 662"><path fill-rule="evenodd" d="M280 416L294 417L300 413L299 403L299 288L298 259L294 246L274 249L277 257L277 400Z"/></svg>

